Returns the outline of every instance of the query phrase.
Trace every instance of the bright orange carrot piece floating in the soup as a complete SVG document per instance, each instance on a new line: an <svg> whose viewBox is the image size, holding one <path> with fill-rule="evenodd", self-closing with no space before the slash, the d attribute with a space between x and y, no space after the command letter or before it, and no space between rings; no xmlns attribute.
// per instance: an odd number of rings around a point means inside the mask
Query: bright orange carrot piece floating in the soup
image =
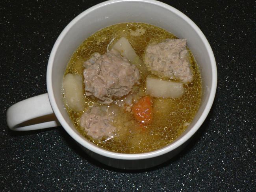
<svg viewBox="0 0 256 192"><path fill-rule="evenodd" d="M152 102L149 96L143 97L132 107L135 118L143 123L148 124L152 120Z"/></svg>

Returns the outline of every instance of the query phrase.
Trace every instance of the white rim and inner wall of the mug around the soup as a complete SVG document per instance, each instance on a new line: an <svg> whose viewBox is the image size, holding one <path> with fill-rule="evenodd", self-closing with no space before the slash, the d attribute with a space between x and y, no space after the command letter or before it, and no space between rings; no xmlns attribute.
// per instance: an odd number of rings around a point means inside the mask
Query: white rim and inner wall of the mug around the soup
<svg viewBox="0 0 256 192"><path fill-rule="evenodd" d="M86 140L73 126L62 99L63 74L70 57L90 35L107 26L123 22L143 22L163 28L179 38L187 39L187 46L198 63L202 77L202 100L190 126L168 146L139 154L121 154L103 150ZM52 49L47 68L49 99L59 122L83 147L115 159L147 159L174 150L186 142L201 126L210 111L217 85L217 70L211 47L199 28L177 9L157 1L111 0L87 9L59 35Z"/></svg>

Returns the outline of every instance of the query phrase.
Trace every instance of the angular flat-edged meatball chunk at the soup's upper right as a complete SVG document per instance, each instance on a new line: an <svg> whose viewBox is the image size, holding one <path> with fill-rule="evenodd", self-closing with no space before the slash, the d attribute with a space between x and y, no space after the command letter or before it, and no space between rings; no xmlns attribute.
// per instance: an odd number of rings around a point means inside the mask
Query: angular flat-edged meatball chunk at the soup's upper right
<svg viewBox="0 0 256 192"><path fill-rule="evenodd" d="M144 60L152 72L160 76L178 79L182 83L193 80L186 39L167 39L165 42L149 45Z"/></svg>

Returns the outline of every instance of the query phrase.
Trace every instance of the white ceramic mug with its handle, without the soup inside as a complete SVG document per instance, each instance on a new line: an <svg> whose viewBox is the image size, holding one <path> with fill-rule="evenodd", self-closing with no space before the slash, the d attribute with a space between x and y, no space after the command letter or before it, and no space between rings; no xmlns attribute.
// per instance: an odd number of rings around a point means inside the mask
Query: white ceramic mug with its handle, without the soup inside
<svg viewBox="0 0 256 192"><path fill-rule="evenodd" d="M198 63L202 77L201 104L189 127L171 144L148 153L114 153L89 142L72 124L62 98L63 74L76 48L96 31L122 22L152 24L187 39L187 46ZM10 129L43 129L60 123L78 145L96 160L116 168L140 169L158 165L176 155L202 125L215 96L217 68L202 31L177 9L154 0L110 0L87 9L61 32L50 54L46 81L48 93L16 103L7 110ZM54 119L54 114L58 120Z"/></svg>

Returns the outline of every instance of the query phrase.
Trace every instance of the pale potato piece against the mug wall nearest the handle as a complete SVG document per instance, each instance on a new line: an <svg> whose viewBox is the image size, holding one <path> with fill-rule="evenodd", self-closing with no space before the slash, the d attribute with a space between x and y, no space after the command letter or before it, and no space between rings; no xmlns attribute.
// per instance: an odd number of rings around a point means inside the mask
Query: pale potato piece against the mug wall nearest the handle
<svg viewBox="0 0 256 192"><path fill-rule="evenodd" d="M82 111L84 108L83 78L76 74L67 74L63 79L63 89L67 104L73 111Z"/></svg>

